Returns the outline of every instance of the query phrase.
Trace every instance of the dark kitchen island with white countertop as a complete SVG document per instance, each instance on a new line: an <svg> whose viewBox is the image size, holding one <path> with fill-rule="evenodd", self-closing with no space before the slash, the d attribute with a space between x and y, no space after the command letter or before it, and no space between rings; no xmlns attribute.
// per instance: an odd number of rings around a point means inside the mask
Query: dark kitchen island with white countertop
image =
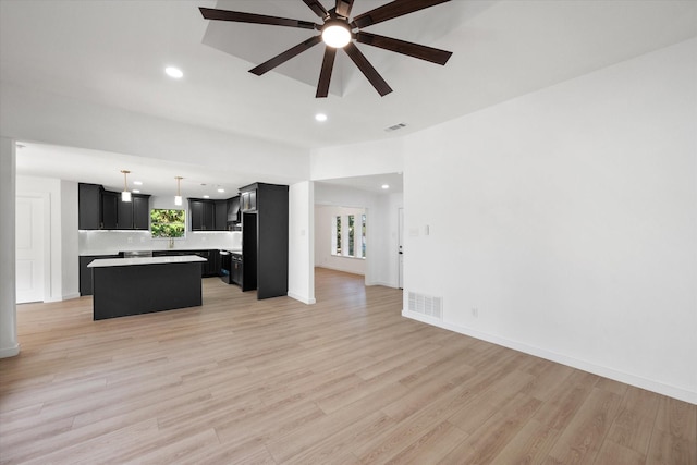
<svg viewBox="0 0 697 465"><path fill-rule="evenodd" d="M87 266L93 274L93 318L201 305L203 261L197 255L93 260Z"/></svg>

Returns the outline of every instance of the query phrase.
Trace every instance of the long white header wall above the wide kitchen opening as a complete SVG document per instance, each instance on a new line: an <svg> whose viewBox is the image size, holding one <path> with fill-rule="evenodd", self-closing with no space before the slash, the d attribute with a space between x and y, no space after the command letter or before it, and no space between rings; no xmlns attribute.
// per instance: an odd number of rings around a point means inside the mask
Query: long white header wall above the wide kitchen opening
<svg viewBox="0 0 697 465"><path fill-rule="evenodd" d="M249 179L281 184L309 178L306 149L27 90L7 82L0 82L0 133L17 140L185 163L195 158L201 166L224 163Z"/></svg>

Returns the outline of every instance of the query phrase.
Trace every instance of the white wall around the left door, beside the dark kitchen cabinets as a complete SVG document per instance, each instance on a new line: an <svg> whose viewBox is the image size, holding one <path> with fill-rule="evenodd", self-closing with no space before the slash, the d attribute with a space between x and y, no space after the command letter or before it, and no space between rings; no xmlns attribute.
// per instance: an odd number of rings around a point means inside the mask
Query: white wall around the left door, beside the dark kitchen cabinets
<svg viewBox="0 0 697 465"><path fill-rule="evenodd" d="M48 211L44 221L44 301L78 297L77 184L52 178L16 176L16 194L42 195L47 199L45 208ZM71 225L75 227L72 231Z"/></svg>

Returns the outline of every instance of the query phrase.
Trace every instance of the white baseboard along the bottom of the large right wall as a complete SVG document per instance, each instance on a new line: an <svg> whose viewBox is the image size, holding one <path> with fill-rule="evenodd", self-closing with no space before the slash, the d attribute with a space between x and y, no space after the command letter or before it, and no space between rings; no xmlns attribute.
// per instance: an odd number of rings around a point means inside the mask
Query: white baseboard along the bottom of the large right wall
<svg viewBox="0 0 697 465"><path fill-rule="evenodd" d="M568 357L563 354L550 352L545 348L535 347L517 341L511 341L498 335L480 332L470 328L461 327L457 325L449 323L437 318L428 317L425 315L416 314L409 310L402 310L402 316L411 318L413 320L421 321L428 325L432 325L438 328L447 329L449 331L465 334L475 339L491 342L492 344L501 345L503 347L513 348L525 354L534 355L536 357L545 358L547 360L557 362L562 365L566 365L572 368L588 371L594 375L598 375L604 378L610 378L615 381L632 384L637 388L646 389L647 391L657 392L669 397L677 399L680 401L689 402L690 404L697 404L697 392L689 391L687 389L677 388L674 386L665 384L652 379L643 378L640 376L627 374L624 371L609 368L602 365L596 365L586 360L582 360L574 357Z"/></svg>

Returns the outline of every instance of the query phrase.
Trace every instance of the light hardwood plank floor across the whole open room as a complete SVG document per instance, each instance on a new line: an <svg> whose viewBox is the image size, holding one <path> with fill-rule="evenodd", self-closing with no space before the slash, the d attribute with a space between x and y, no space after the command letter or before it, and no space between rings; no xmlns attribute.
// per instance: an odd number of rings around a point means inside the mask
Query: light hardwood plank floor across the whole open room
<svg viewBox="0 0 697 465"><path fill-rule="evenodd" d="M359 277L317 269L316 293L19 306L0 463L697 464L695 405L402 318Z"/></svg>

